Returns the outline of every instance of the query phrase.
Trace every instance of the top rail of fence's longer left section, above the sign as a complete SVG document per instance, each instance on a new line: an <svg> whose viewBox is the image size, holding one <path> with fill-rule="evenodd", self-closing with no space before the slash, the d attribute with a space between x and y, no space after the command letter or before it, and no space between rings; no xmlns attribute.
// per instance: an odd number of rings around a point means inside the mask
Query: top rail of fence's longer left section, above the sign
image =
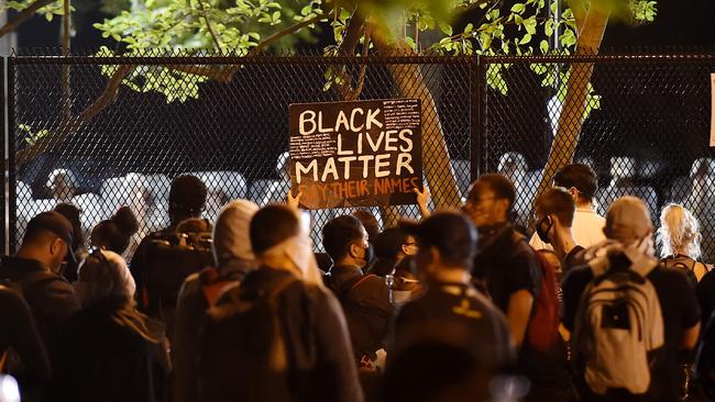
<svg viewBox="0 0 715 402"><path fill-rule="evenodd" d="M42 56L11 55L16 65L316 65L476 64L476 56Z"/></svg>

